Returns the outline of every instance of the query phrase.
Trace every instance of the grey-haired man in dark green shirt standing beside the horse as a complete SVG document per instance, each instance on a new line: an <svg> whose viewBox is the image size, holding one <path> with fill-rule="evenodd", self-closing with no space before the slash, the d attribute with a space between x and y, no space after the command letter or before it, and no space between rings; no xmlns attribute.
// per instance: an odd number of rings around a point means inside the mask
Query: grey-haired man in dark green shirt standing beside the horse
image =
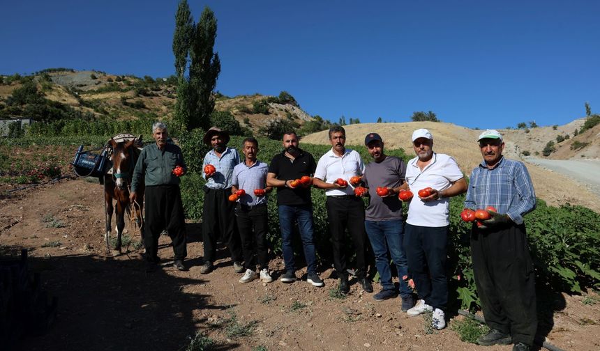
<svg viewBox="0 0 600 351"><path fill-rule="evenodd" d="M137 188L143 186L142 184L146 185L146 230L144 231L146 271L156 270L160 262L158 237L163 229L169 232L173 242L173 265L183 271L186 270L183 259L188 255L188 251L179 176L186 173L186 162L183 161L179 146L167 143L167 126L164 123L156 122L152 125L152 137L156 143L146 146L135 164L129 200L133 203L137 198ZM174 172L178 166L181 173Z"/></svg>

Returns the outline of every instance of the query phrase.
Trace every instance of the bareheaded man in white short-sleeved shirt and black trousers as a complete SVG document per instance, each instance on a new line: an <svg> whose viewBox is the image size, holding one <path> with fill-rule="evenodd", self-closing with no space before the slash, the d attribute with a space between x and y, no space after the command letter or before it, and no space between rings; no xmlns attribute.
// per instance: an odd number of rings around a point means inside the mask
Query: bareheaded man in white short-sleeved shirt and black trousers
<svg viewBox="0 0 600 351"><path fill-rule="evenodd" d="M362 175L365 166L359 153L345 148L346 131L343 127L336 125L329 129L329 142L331 150L327 151L317 162L314 184L316 187L326 189L327 217L333 242L333 266L340 278L340 292L343 294L350 292L344 250L346 229L352 236L352 243L357 253L359 282L363 290L373 292L373 286L366 277L365 208L362 199L354 196L352 188L347 186L350 178ZM345 185L336 182L338 179L345 180Z"/></svg>

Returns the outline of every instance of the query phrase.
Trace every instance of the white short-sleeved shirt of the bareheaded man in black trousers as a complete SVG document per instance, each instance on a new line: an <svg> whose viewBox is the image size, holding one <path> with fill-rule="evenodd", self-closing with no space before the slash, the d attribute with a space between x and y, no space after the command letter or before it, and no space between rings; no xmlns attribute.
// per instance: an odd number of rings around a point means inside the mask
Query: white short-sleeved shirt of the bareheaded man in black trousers
<svg viewBox="0 0 600 351"><path fill-rule="evenodd" d="M354 195L354 187L350 184L350 178L361 176L365 171L365 165L361 155L354 150L346 149L341 157L333 153L333 148L325 155L322 155L317 162L315 178L324 182L333 184L338 178L348 182L348 186L343 189L327 189L325 195L340 196Z"/></svg>

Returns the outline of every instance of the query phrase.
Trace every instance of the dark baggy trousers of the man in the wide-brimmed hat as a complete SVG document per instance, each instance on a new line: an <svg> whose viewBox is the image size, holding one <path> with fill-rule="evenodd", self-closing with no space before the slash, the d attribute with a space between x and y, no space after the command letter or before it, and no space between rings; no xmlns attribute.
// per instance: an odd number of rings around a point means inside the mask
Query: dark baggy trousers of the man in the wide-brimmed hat
<svg viewBox="0 0 600 351"><path fill-rule="evenodd" d="M204 205L202 206L202 242L204 260L215 260L217 240L227 242L233 261L241 262L241 244L235 226L235 205L229 201L231 188L209 189L204 187Z"/></svg>

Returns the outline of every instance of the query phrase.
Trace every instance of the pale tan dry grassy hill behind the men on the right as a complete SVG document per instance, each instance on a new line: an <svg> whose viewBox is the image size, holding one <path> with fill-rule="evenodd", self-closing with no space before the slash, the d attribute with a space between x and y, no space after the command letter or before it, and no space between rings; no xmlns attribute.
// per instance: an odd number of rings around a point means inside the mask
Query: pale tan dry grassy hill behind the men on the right
<svg viewBox="0 0 600 351"><path fill-rule="evenodd" d="M571 126L569 126L571 127ZM451 123L434 122L409 122L409 123L361 123L357 125L346 125L347 144L362 145L366 134L377 132L386 143L387 148L403 148L408 155L414 155L412 149L412 132L418 128L427 128L433 134L433 149L437 153L447 153L456 158L460 169L467 174L471 173L474 166L481 162L481 153L477 146L477 137L480 130L471 130L466 127L460 127ZM546 129L552 130L552 127L534 128L537 131L533 134L534 138L543 139L543 132ZM507 157L520 159L518 150L523 150L534 146L534 143L528 137L522 137L523 130L502 130L504 132L504 141L506 143ZM327 131L310 134L302 139L303 143L327 144L329 139ZM547 142L547 141L546 141ZM546 144L539 141L539 143ZM540 150L541 151L541 150ZM526 158L524 159L526 161ZM535 166L527 164L534 187L539 198L552 205L561 205L571 203L584 205L600 212L600 198L590 193L585 185L571 180L558 173L554 173Z"/></svg>

